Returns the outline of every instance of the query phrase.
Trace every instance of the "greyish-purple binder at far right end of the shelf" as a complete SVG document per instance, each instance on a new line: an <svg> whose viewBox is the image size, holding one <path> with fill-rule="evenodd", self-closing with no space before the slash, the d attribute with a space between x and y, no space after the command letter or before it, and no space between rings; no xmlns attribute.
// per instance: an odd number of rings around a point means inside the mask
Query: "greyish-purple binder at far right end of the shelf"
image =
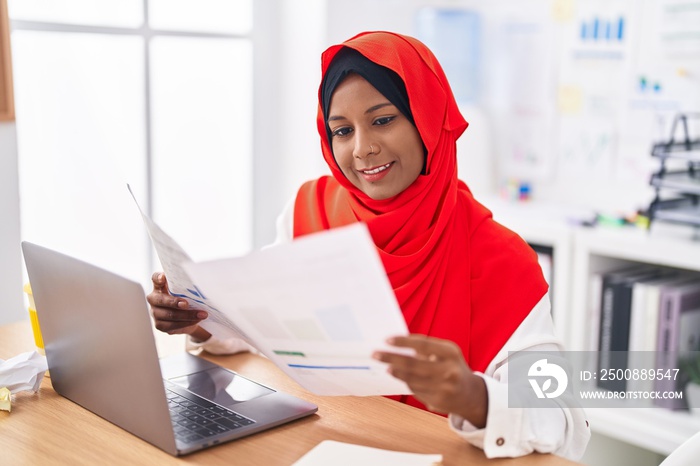
<svg viewBox="0 0 700 466"><path fill-rule="evenodd" d="M656 379L654 390L683 391L687 378L678 370L680 361L700 350L700 279L662 288L659 303L656 369L669 377ZM660 397L654 404L674 410L688 407L685 398Z"/></svg>

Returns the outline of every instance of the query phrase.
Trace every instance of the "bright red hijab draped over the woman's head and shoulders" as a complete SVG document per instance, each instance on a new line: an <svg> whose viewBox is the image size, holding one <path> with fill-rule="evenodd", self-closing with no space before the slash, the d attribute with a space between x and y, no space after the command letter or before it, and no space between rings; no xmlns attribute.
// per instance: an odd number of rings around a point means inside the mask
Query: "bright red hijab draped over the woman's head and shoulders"
<svg viewBox="0 0 700 466"><path fill-rule="evenodd" d="M425 174L393 198L371 199L335 163L319 104L321 148L333 176L299 189L294 237L366 222L409 331L452 340L469 367L483 372L547 291L537 256L457 179L456 141L467 122L432 52L412 37L365 32L323 53L323 76L342 47L403 79L427 150ZM413 397L402 401L424 408Z"/></svg>

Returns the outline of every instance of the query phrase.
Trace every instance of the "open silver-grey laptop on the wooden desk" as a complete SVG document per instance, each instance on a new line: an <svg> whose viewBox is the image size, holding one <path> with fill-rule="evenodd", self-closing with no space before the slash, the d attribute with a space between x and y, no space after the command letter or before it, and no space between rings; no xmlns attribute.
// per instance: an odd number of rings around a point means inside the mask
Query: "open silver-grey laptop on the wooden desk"
<svg viewBox="0 0 700 466"><path fill-rule="evenodd" d="M175 456L309 416L312 403L189 353L160 359L140 284L22 242L51 383Z"/></svg>

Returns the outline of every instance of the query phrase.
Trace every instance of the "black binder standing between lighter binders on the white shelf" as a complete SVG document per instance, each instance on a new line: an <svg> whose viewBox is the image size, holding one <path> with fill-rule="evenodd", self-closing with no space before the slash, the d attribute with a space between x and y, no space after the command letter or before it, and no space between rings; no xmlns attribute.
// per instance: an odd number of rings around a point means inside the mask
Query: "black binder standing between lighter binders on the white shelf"
<svg viewBox="0 0 700 466"><path fill-rule="evenodd" d="M635 266L603 275L600 300L600 332L598 342L598 372L628 368L632 289L636 282L658 277L658 267ZM598 378L599 388L624 391L624 378Z"/></svg>

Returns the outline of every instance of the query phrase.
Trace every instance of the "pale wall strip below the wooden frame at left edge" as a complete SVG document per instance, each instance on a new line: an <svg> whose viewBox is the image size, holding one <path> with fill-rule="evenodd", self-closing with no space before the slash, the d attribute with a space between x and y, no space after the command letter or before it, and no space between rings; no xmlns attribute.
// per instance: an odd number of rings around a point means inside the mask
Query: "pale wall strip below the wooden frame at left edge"
<svg viewBox="0 0 700 466"><path fill-rule="evenodd" d="M19 230L17 133L0 123L0 325L26 319Z"/></svg>

